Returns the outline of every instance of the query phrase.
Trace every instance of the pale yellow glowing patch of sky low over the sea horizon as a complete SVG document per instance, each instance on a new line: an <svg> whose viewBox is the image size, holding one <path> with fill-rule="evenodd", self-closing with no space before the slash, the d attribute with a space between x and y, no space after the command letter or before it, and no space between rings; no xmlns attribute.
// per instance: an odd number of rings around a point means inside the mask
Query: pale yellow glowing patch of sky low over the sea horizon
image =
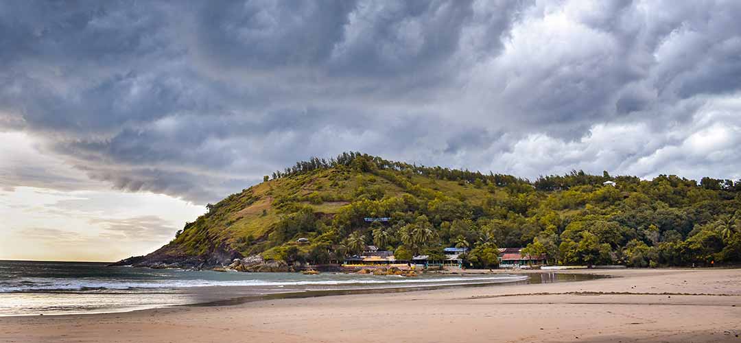
<svg viewBox="0 0 741 343"><path fill-rule="evenodd" d="M205 207L153 193L0 191L0 259L112 262L150 253Z"/></svg>

